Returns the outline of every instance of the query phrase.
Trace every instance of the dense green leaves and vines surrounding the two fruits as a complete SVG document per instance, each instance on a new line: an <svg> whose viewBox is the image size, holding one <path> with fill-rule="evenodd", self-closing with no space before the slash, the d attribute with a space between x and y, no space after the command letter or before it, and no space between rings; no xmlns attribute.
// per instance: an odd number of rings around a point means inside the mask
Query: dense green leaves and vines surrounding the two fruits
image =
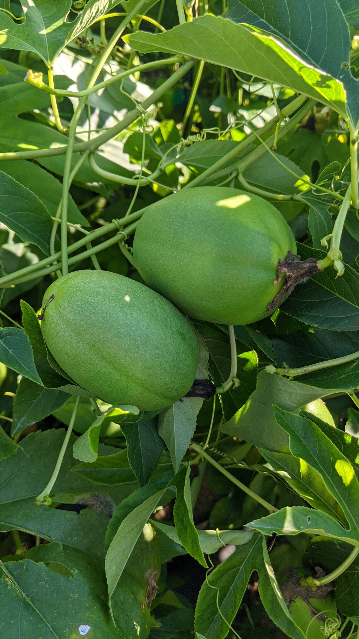
<svg viewBox="0 0 359 639"><path fill-rule="evenodd" d="M357 31L349 0L0 0L1 636L357 633ZM216 399L96 404L47 353L45 290L67 254L141 282L143 210L224 184L271 201L302 260L339 238L335 268L234 327ZM228 327L193 323L219 387Z"/></svg>

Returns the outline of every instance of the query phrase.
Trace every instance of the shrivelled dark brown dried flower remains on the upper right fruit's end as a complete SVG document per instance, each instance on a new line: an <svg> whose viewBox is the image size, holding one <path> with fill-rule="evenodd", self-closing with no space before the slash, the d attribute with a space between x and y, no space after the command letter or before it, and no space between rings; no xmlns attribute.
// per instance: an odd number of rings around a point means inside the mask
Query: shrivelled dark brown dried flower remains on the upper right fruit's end
<svg viewBox="0 0 359 639"><path fill-rule="evenodd" d="M280 273L286 273L287 281L284 284L282 290L274 298L273 302L270 302L267 306L267 312L274 311L284 300L287 299L294 286L303 282L304 280L321 273L321 269L317 265L316 258L305 259L303 262L300 255L293 255L291 250L287 252L285 259L280 259L277 267L277 279L273 282L273 286L276 286L280 282Z"/></svg>

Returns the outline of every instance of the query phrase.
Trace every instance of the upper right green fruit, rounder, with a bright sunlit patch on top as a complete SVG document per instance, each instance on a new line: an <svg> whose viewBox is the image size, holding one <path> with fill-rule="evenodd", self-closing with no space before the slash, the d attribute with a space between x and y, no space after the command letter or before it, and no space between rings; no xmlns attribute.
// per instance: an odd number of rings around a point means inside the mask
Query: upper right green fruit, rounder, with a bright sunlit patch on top
<svg viewBox="0 0 359 639"><path fill-rule="evenodd" d="M279 259L296 254L293 233L261 197L225 187L188 189L152 204L134 239L148 286L192 318L249 324L284 286Z"/></svg>

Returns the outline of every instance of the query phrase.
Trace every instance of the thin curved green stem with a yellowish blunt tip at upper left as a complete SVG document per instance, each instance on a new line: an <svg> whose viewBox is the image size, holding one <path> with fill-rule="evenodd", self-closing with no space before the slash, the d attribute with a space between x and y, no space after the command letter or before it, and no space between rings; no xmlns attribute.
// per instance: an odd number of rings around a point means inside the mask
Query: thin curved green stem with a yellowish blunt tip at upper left
<svg viewBox="0 0 359 639"><path fill-rule="evenodd" d="M108 78L103 82L98 82L98 84L95 84L95 86L91 86L88 89L84 89L83 91L67 91L66 89L54 89L53 87L47 86L47 84L45 84L44 82L40 82L38 79L32 78L31 75L26 79L26 82L29 82L29 84L33 84L38 89L42 89L42 91L46 91L46 93L50 93L51 95L57 95L59 97L84 98L88 95L91 95L92 93L97 93L97 91L100 91L100 89L104 89L114 82L123 80L123 78L128 77L128 75L132 75L132 73L150 71L151 69L158 69L161 66L175 65L179 62L183 62L183 56L173 56L172 58L156 60L154 62L147 62L144 65L133 66L132 68L126 69L125 71L122 71L117 75L112 75L111 78Z"/></svg>

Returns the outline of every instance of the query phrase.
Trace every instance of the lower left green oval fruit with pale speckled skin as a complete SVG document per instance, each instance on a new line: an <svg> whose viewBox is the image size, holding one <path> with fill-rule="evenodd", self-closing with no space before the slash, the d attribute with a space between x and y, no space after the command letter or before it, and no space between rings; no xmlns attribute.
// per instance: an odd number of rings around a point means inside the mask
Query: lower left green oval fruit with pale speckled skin
<svg viewBox="0 0 359 639"><path fill-rule="evenodd" d="M159 410L185 395L199 344L185 316L155 291L98 270L65 275L45 292L47 346L74 381L110 404Z"/></svg>

